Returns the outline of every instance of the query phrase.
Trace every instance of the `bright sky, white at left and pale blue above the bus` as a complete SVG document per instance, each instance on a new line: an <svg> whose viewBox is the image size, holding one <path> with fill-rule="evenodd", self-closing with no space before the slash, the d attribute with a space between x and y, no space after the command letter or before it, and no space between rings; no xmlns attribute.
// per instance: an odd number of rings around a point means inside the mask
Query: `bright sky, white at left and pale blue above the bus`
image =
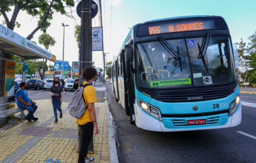
<svg viewBox="0 0 256 163"><path fill-rule="evenodd" d="M74 1L76 2L73 7L75 20L55 13L51 26L47 30L47 33L56 40L55 46L50 47L49 51L56 56L57 60L62 60L63 27L61 24L69 25L65 27L64 60L69 61L70 65L71 62L78 61L74 26L76 23L80 25L81 22L76 14L78 2ZM118 54L129 28L141 22L166 17L222 16L229 26L232 43L239 42L241 38L248 43L248 37L256 32L255 6L256 0L102 0L104 50L109 53L106 54L107 62L112 61L113 56ZM70 11L67 9L67 12ZM8 13L8 17L11 15L12 11ZM0 23L2 20L4 20L3 16L0 16ZM24 11L19 13L17 21L21 26L14 31L23 37L27 37L37 27L37 18L27 15ZM92 19L92 26L100 26L98 16ZM40 34L42 32L37 31L32 40L38 43ZM92 62L96 67L103 67L102 51L92 52Z"/></svg>

